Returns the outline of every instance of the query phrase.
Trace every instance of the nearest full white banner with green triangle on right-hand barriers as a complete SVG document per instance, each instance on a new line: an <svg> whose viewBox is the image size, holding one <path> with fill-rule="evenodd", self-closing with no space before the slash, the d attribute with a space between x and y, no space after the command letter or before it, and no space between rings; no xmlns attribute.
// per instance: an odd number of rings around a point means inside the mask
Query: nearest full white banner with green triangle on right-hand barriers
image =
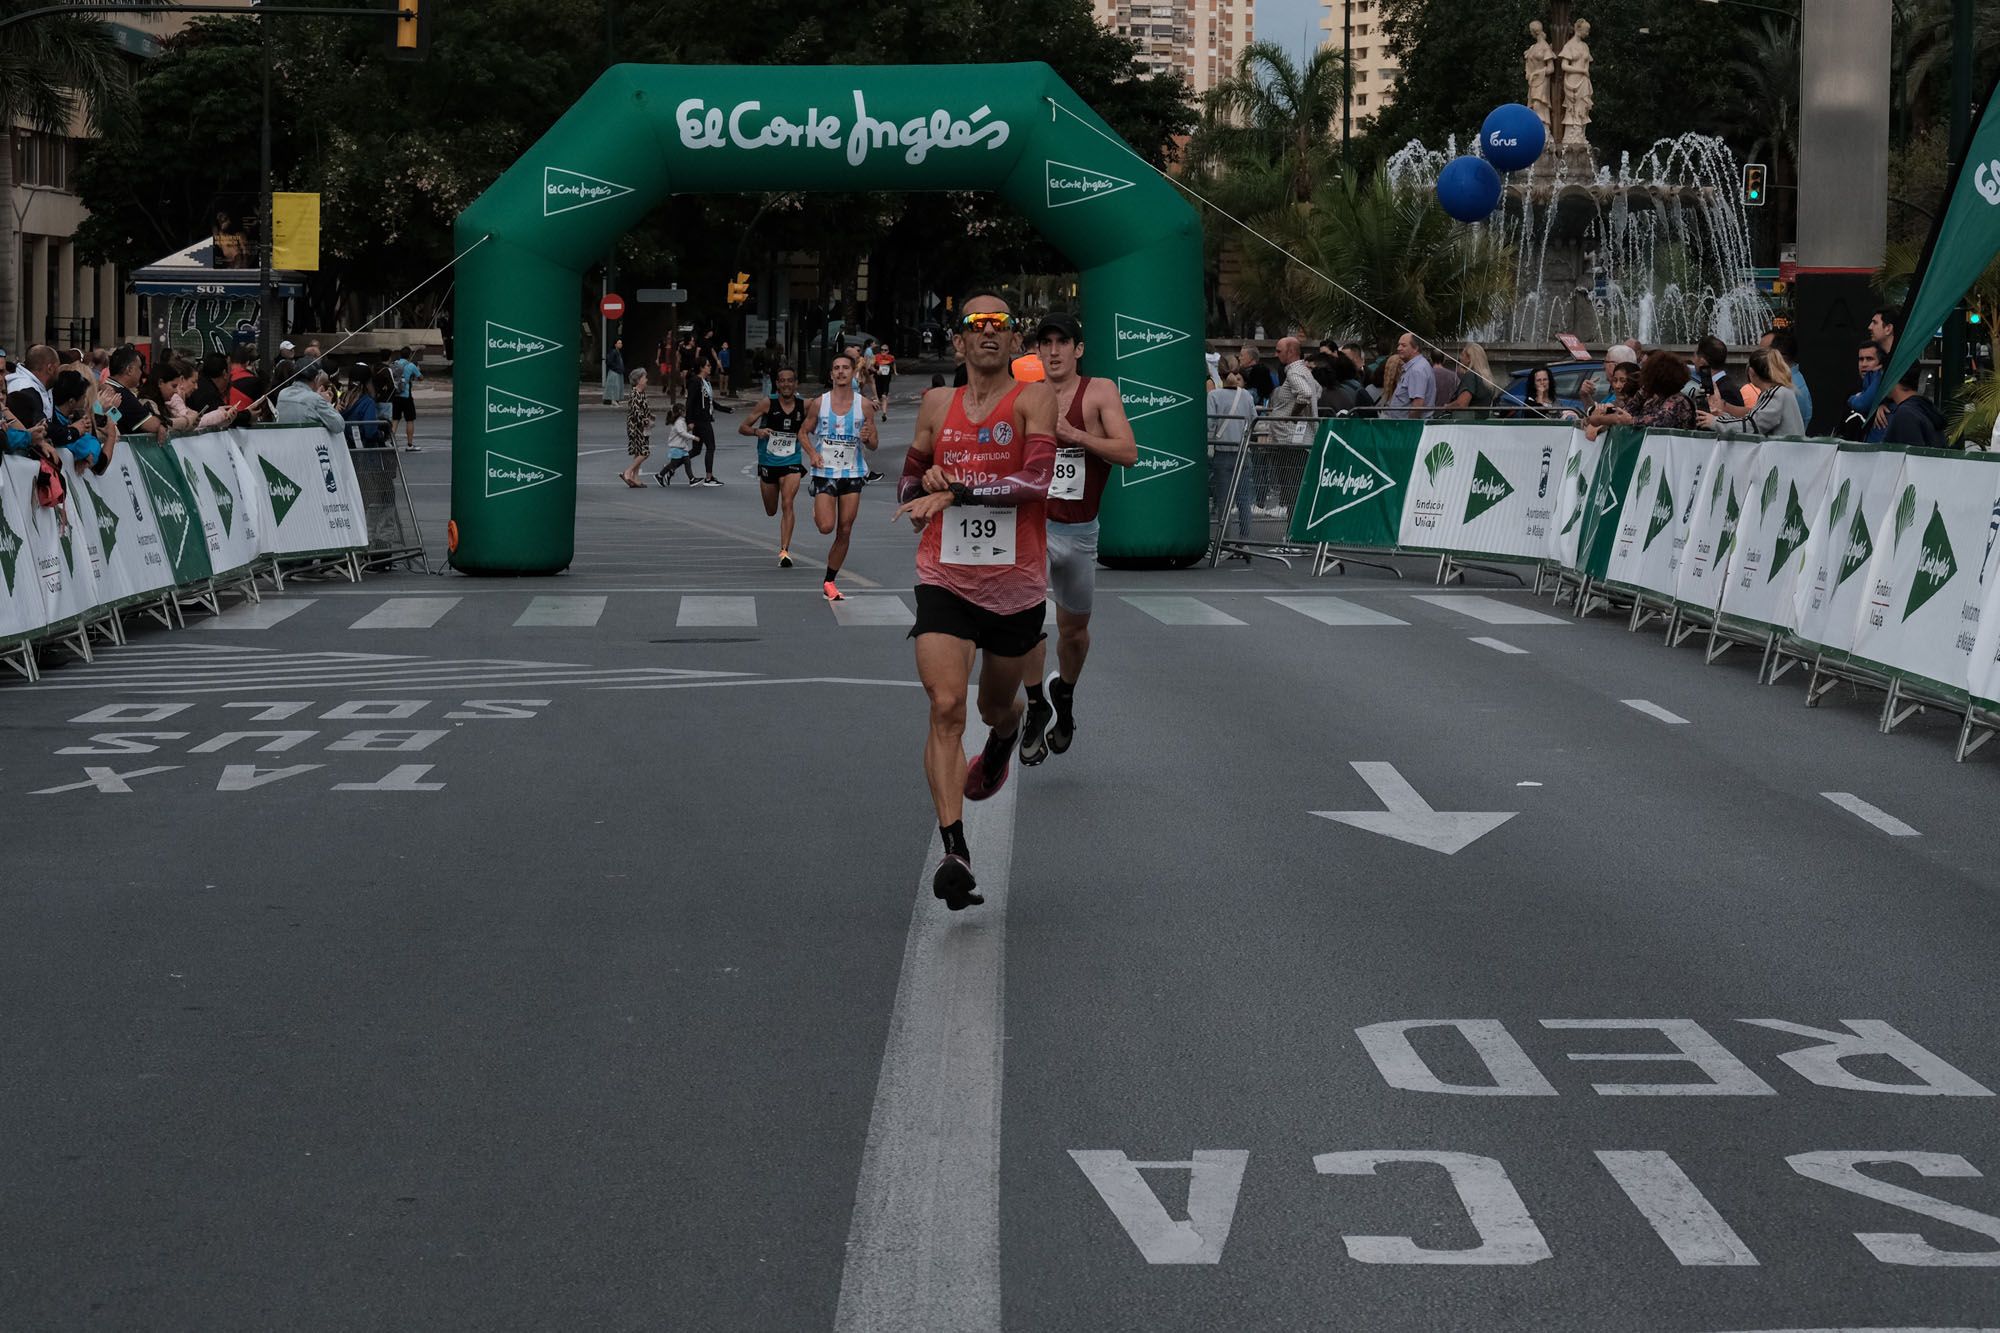
<svg viewBox="0 0 2000 1333"><path fill-rule="evenodd" d="M1896 500L1874 532L1854 656L1970 689L1996 498L2000 454L1904 454Z"/></svg>

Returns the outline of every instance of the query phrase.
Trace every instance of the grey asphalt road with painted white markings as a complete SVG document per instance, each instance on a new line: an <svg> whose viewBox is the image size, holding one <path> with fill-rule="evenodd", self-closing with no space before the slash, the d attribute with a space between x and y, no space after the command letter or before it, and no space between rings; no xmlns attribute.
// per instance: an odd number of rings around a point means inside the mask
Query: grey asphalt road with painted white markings
<svg viewBox="0 0 2000 1333"><path fill-rule="evenodd" d="M586 410L560 578L0 687L0 1327L2000 1325L1950 719L1418 562L1104 572L952 917L914 538L870 490L834 614L724 438L626 490Z"/></svg>

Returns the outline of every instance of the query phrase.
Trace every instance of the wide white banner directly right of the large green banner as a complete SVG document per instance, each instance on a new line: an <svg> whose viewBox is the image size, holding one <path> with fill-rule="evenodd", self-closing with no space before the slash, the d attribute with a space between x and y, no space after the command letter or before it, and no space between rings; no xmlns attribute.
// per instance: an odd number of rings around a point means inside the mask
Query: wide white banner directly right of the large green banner
<svg viewBox="0 0 2000 1333"><path fill-rule="evenodd" d="M1570 434L1570 426L1424 426L1398 544L1544 558L1556 532L1556 482Z"/></svg>

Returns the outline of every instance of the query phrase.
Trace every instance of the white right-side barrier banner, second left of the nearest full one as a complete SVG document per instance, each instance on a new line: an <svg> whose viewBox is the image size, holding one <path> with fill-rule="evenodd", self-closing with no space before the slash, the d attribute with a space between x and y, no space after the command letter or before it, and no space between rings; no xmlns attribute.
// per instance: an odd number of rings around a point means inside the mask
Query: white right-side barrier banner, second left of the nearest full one
<svg viewBox="0 0 2000 1333"><path fill-rule="evenodd" d="M1756 448L1756 502L1736 526L1722 614L1770 628L1790 628L1806 570L1812 522L1840 448L1826 440L1764 440Z"/></svg>

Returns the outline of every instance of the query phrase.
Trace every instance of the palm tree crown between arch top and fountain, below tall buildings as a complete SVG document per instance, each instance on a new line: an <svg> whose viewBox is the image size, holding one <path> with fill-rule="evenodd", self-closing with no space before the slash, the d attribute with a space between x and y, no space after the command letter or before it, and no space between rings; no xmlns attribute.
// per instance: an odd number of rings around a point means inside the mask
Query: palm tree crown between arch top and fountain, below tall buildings
<svg viewBox="0 0 2000 1333"><path fill-rule="evenodd" d="M1252 42L1236 60L1236 72L1202 98L1202 122L1186 160L1218 180L1254 184L1264 206L1310 202L1320 182L1338 170L1334 122L1346 90L1342 50L1322 46L1298 66L1276 42ZM1274 196L1274 190L1284 194ZM1236 202L1248 198L1242 188L1230 194Z"/></svg>

